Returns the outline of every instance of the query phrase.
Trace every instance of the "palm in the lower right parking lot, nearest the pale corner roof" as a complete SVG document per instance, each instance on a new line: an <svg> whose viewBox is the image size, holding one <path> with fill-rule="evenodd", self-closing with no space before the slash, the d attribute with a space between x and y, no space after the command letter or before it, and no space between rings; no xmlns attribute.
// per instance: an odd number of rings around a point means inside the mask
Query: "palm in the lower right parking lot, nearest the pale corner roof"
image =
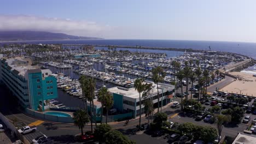
<svg viewBox="0 0 256 144"><path fill-rule="evenodd" d="M231 116L230 115L214 115L214 118L217 120L216 125L219 133L218 135L218 142L219 142L220 135L222 134L223 124L231 122Z"/></svg>

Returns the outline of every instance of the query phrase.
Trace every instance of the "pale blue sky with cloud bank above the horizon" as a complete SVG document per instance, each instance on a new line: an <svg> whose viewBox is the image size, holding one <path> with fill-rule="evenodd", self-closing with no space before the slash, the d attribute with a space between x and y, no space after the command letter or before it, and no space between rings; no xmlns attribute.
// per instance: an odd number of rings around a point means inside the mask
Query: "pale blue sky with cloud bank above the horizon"
<svg viewBox="0 0 256 144"><path fill-rule="evenodd" d="M256 43L256 1L2 0L0 31Z"/></svg>

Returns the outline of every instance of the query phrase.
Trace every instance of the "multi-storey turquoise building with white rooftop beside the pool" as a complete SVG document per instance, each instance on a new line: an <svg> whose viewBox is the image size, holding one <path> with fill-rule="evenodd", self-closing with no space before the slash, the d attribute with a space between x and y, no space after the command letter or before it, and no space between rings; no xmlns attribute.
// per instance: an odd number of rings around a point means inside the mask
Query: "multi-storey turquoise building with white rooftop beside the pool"
<svg viewBox="0 0 256 144"><path fill-rule="evenodd" d="M49 69L31 65L27 58L1 59L0 81L24 108L44 111L47 100L57 98L57 82Z"/></svg>

